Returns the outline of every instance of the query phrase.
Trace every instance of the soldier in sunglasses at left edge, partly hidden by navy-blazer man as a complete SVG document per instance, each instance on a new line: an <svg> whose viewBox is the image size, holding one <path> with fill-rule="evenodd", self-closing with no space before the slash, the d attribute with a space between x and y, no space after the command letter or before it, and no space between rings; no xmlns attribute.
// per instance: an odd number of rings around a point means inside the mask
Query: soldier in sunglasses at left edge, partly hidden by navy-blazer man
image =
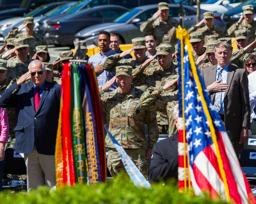
<svg viewBox="0 0 256 204"><path fill-rule="evenodd" d="M0 59L0 97L7 89L8 84L10 83L10 79L7 78L7 62L6 60ZM8 116L9 122L9 136L8 143L5 145L5 148L15 148L15 111L14 108L5 108Z"/></svg>

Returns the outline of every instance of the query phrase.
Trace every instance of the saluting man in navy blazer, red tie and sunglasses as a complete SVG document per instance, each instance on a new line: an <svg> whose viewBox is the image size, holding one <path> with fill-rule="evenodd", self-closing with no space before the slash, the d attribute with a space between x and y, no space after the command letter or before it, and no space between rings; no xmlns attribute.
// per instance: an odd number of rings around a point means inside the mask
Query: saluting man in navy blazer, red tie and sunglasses
<svg viewBox="0 0 256 204"><path fill-rule="evenodd" d="M60 109L60 85L45 80L45 65L32 61L29 71L0 98L3 108L15 108L16 152L24 153L28 192L38 185L54 187L55 143ZM31 78L32 82L23 84Z"/></svg>

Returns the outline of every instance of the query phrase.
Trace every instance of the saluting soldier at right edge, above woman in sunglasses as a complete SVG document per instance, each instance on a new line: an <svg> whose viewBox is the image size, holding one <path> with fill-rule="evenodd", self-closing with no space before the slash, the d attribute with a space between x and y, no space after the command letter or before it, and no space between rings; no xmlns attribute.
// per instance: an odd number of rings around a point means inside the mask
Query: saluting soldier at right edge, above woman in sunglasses
<svg viewBox="0 0 256 204"><path fill-rule="evenodd" d="M255 50L252 49L252 47L255 46L255 42L251 46L248 46L249 39L247 30L236 30L234 33L236 35L237 49L233 50L230 62L243 68L243 64L246 60L245 56L255 52Z"/></svg>

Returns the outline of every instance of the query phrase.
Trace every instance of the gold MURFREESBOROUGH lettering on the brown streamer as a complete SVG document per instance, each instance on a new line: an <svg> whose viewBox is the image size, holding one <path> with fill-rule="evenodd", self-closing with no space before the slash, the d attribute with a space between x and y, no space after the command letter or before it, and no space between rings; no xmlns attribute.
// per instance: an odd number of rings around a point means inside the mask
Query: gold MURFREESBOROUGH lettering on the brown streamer
<svg viewBox="0 0 256 204"><path fill-rule="evenodd" d="M95 140L94 140L94 130L93 130L93 122L91 113L86 113L87 123L89 125L89 154L90 154L90 166L91 166L91 177L93 182L92 183L99 183L99 174L98 174L98 165L97 165L97 156L95 150Z"/></svg>

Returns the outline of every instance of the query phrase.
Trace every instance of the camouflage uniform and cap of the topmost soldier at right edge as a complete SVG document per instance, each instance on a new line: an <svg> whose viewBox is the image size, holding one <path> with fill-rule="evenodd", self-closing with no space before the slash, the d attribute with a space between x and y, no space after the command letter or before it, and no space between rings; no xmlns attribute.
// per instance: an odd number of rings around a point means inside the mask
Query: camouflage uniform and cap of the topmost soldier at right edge
<svg viewBox="0 0 256 204"><path fill-rule="evenodd" d="M245 5L242 7L244 14L252 14L253 13L253 6L252 5ZM255 30L256 30L256 22L252 20L251 23L246 23L245 20L242 21L241 24L237 26L237 22L231 25L231 27L227 30L229 37L235 37L235 30L247 30L248 31L248 44L251 44L255 40Z"/></svg>

